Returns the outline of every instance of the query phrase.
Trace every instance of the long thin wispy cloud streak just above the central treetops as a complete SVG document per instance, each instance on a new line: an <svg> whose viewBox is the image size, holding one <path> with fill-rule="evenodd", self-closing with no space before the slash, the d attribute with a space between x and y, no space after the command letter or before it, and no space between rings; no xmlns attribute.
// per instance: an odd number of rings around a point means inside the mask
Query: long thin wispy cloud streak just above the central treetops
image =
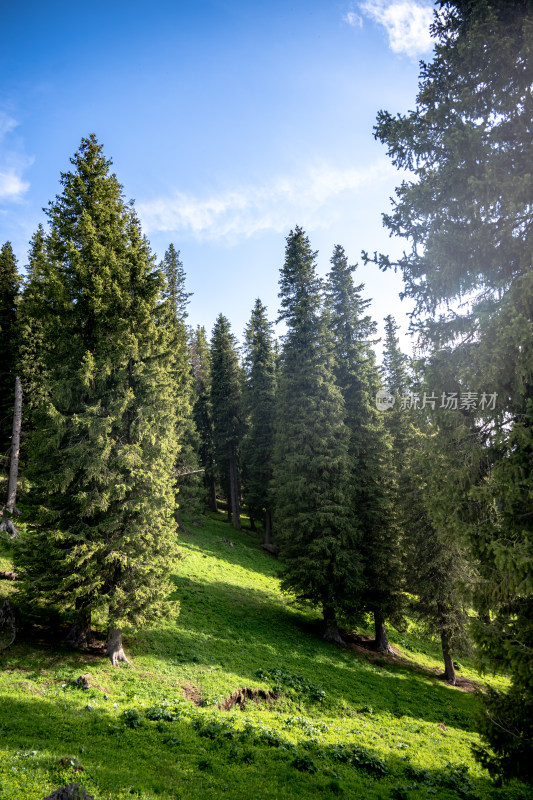
<svg viewBox="0 0 533 800"><path fill-rule="evenodd" d="M181 231L197 239L232 240L261 231L280 233L295 222L313 230L331 224L363 187L390 179L391 171L385 160L366 169L322 164L303 176L278 177L263 186L230 188L204 197L175 192L136 207L148 233Z"/></svg>

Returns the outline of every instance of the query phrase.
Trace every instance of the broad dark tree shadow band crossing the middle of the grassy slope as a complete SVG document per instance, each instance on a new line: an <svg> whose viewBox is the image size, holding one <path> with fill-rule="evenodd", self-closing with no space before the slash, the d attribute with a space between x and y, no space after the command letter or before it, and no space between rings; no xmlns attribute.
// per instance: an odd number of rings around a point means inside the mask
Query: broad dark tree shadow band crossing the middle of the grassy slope
<svg viewBox="0 0 533 800"><path fill-rule="evenodd" d="M140 632L132 642L138 656L192 668L200 680L205 667L234 674L231 691L260 683L258 670L281 669L324 689L336 713L343 704L354 714L371 705L374 713L472 729L477 698L436 682L434 675L401 663L375 664L329 644L261 590L185 578L176 583L182 601L176 626L167 626L164 634L159 628Z"/></svg>

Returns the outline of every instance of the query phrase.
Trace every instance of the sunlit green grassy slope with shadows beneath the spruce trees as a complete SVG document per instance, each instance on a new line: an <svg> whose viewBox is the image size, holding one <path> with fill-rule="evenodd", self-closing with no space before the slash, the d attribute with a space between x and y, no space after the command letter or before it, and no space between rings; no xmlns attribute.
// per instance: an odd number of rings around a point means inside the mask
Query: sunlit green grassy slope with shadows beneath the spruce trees
<svg viewBox="0 0 533 800"><path fill-rule="evenodd" d="M437 641L414 625L389 629L390 657L370 631L328 644L257 534L222 515L188 529L168 617L125 632L130 667L111 666L103 633L73 652L27 630L0 652L0 800L71 782L96 800L531 797L495 786L471 752L473 690L504 677L461 657L461 685L445 684Z"/></svg>

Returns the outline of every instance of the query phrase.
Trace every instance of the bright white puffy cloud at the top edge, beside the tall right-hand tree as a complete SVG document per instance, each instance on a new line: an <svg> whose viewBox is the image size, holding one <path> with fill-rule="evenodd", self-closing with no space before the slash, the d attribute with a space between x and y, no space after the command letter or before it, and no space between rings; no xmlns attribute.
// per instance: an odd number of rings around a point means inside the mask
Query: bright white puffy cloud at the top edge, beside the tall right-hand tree
<svg viewBox="0 0 533 800"><path fill-rule="evenodd" d="M433 5L426 0L365 0L360 8L370 19L383 25L394 53L414 58L432 50L429 26L433 20Z"/></svg>

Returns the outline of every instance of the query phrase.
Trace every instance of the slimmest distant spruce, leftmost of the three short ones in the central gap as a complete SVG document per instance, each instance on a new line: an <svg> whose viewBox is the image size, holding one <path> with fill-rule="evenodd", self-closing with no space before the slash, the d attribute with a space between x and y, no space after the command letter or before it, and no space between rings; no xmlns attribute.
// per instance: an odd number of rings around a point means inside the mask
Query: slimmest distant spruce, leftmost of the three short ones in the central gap
<svg viewBox="0 0 533 800"><path fill-rule="evenodd" d="M211 361L205 328L198 325L190 338L194 377L193 416L198 433L198 458L204 469L204 488L207 506L217 511L215 444L213 409L211 405Z"/></svg>

